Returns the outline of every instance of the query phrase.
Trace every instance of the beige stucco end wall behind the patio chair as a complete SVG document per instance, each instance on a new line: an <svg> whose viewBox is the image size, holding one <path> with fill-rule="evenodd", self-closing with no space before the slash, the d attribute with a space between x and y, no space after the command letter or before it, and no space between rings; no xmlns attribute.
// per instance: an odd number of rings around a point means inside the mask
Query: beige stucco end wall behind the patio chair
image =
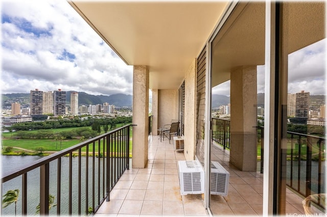
<svg viewBox="0 0 327 217"><path fill-rule="evenodd" d="M178 120L178 90L158 90L158 127Z"/></svg>

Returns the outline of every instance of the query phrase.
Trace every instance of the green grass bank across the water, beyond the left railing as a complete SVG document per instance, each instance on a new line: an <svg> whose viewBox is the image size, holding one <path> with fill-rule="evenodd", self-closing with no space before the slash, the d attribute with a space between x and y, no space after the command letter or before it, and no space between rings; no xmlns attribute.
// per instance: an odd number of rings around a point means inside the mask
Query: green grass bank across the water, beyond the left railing
<svg viewBox="0 0 327 217"><path fill-rule="evenodd" d="M118 124L117 127L121 127L123 124ZM53 132L62 132L74 130L78 127L60 128L60 129L50 129ZM38 130L31 130L30 132L37 132ZM100 134L105 133L101 131ZM3 155L39 155L46 156L51 153L64 150L66 148L72 147L81 143L81 138L76 137L73 139L17 139L16 132L3 132L2 133L2 154ZM132 131L130 131L130 139L132 138ZM9 147L9 148L8 148ZM12 148L11 148L12 147ZM95 152L98 153L98 142L95 143ZM132 148L132 141L130 140L130 153ZM86 147L81 149L82 154L86 153ZM89 155L92 154L93 148L92 144L89 145ZM105 148L106 151L106 148ZM111 150L110 150L111 151ZM100 152L103 152L103 142L100 144ZM116 152L116 150L112 150ZM77 152L78 153L78 150Z"/></svg>

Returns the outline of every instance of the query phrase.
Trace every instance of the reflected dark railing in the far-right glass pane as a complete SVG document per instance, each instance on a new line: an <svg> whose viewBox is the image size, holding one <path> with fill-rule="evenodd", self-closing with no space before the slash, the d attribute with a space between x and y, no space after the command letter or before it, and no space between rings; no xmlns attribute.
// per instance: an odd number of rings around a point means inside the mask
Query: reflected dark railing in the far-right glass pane
<svg viewBox="0 0 327 217"><path fill-rule="evenodd" d="M324 149L325 138L287 131L286 184L304 197L326 191Z"/></svg>

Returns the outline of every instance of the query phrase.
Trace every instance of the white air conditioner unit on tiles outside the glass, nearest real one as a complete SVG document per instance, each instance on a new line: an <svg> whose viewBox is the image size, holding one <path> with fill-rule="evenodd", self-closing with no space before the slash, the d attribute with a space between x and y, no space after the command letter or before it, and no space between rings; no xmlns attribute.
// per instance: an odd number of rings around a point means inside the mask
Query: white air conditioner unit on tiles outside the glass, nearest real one
<svg viewBox="0 0 327 217"><path fill-rule="evenodd" d="M204 171L198 160L178 161L180 194L204 193Z"/></svg>

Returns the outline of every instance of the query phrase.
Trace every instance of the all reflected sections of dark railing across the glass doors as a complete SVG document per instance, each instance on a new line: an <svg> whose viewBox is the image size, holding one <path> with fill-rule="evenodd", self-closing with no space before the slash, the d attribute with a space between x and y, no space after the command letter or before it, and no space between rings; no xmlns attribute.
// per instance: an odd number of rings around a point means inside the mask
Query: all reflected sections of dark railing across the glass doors
<svg viewBox="0 0 327 217"><path fill-rule="evenodd" d="M229 146L229 120L212 118L212 139L222 145L224 149ZM261 151L260 171L264 172L264 127L258 129L258 146ZM286 166L286 184L295 192L308 197L322 194L326 191L325 183L325 138L310 134L287 131L286 144L283 145L283 159ZM323 201L318 201L321 206Z"/></svg>

